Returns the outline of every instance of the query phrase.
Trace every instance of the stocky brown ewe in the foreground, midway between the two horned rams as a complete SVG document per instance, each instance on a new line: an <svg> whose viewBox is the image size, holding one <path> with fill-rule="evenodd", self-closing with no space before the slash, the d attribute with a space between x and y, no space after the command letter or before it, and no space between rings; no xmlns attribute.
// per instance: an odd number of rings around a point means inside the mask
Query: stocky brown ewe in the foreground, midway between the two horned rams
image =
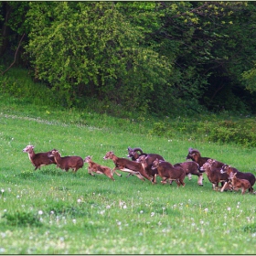
<svg viewBox="0 0 256 256"><path fill-rule="evenodd" d="M161 183L165 184L167 180L175 180L177 187L180 185L185 187L184 178L186 176L186 172L180 166L175 167L169 162L159 161L156 158L152 169L157 169L158 175L162 177Z"/></svg>

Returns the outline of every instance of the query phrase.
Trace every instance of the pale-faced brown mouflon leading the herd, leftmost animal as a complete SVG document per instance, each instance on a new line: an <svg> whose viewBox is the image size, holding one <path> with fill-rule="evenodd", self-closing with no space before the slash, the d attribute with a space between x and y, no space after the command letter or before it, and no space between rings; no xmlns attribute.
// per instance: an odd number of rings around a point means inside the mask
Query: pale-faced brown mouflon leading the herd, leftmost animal
<svg viewBox="0 0 256 256"><path fill-rule="evenodd" d="M28 144L27 147L23 149L23 152L28 154L28 158L30 162L32 163L32 165L35 166L35 171L37 170L37 168L40 169L40 167L44 165L52 165L52 164L56 165L54 157L48 156L50 151L45 153L35 154L34 145Z"/></svg>

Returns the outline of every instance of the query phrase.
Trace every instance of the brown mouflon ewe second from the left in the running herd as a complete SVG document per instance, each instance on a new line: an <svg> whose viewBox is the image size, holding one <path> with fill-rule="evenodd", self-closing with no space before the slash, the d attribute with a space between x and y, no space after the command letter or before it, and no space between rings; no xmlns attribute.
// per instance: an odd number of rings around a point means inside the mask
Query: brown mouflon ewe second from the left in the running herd
<svg viewBox="0 0 256 256"><path fill-rule="evenodd" d="M78 169L82 168L83 166L83 160L80 156L63 156L59 154L59 151L56 149L53 149L48 154L49 157L54 157L55 162L57 163L57 166L65 170L66 172L69 172L69 169L72 169L74 172L77 172Z"/></svg>

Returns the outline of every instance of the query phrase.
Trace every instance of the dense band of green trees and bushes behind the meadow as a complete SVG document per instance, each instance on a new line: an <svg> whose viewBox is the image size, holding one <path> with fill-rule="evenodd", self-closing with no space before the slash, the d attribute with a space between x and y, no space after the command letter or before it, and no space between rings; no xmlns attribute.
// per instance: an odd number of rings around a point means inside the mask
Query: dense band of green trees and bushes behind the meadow
<svg viewBox="0 0 256 256"><path fill-rule="evenodd" d="M5 75L21 65L64 107L98 101L125 115L255 113L255 8L255 2L1 2L0 82L12 92Z"/></svg>

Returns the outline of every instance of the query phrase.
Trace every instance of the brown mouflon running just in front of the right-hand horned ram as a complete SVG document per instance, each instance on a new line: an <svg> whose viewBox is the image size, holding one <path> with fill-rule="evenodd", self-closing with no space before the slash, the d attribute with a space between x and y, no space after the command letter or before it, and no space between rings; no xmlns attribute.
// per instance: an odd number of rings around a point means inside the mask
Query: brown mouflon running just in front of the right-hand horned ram
<svg viewBox="0 0 256 256"><path fill-rule="evenodd" d="M227 174L220 173L219 162L214 159L208 159L208 161L200 167L202 172L205 172L208 176L209 182L212 183L212 188L218 190L219 182L226 182L228 180Z"/></svg>

